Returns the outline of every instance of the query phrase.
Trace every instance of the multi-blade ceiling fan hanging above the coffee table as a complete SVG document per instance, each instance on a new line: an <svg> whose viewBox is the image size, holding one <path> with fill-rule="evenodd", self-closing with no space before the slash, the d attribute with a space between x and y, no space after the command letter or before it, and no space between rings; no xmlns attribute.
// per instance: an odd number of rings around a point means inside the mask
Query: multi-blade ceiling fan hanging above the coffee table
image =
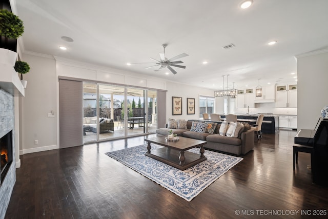
<svg viewBox="0 0 328 219"><path fill-rule="evenodd" d="M155 58L150 58L153 61L155 61L155 63L131 63L131 65L136 65L136 64L155 64L155 65L146 67L146 69L152 68L152 67L155 67L155 66L160 66L159 69L161 69L161 68L168 68L173 74L176 74L177 72L171 66L178 67L178 68L186 68L186 66L176 65L176 64L183 63L182 61L174 61L174 60L176 60L178 58L186 57L186 56L188 56L188 54L187 53L182 53L180 55L177 55L177 56L174 56L173 58L168 59L167 57L165 57L165 48L167 46L168 46L167 44L163 44L162 45L162 47L164 49L164 52L163 53L159 53L160 61L157 60L157 59L155 59ZM172 61L174 61L174 62L172 62ZM158 71L159 69L157 69L155 71Z"/></svg>

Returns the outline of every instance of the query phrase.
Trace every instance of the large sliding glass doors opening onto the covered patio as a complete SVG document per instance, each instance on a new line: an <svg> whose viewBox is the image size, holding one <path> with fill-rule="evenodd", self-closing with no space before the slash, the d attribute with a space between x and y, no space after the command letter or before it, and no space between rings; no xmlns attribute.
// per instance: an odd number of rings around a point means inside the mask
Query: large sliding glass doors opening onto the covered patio
<svg viewBox="0 0 328 219"><path fill-rule="evenodd" d="M84 144L155 133L156 105L155 90L84 82Z"/></svg>

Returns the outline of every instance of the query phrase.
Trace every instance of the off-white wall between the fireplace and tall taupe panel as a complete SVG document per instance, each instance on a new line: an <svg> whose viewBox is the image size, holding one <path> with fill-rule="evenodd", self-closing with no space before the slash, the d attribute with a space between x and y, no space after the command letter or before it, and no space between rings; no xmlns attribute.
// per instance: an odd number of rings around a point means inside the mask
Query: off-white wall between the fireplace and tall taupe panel
<svg viewBox="0 0 328 219"><path fill-rule="evenodd" d="M57 148L56 120L48 117L48 113L56 110L56 62L53 58L28 54L24 54L22 60L31 70L23 75L28 84L19 109L22 116L20 154Z"/></svg>

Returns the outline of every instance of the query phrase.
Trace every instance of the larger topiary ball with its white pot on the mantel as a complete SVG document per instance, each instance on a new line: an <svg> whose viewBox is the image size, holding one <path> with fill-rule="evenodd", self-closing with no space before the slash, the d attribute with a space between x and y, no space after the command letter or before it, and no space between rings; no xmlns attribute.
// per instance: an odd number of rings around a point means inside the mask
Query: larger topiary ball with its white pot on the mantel
<svg viewBox="0 0 328 219"><path fill-rule="evenodd" d="M14 66L16 50L7 49L8 39L17 39L24 33L24 25L21 19L6 9L0 9L0 62ZM16 43L15 43L16 45ZM8 47L12 49L11 47Z"/></svg>

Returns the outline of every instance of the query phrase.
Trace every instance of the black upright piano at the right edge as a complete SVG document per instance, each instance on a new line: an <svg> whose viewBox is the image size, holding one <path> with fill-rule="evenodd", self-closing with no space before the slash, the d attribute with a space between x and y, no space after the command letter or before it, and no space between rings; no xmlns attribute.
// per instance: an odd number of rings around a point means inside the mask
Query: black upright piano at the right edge
<svg viewBox="0 0 328 219"><path fill-rule="evenodd" d="M312 147L312 182L328 186L328 119L319 118L314 130L301 129L294 138L295 144Z"/></svg>

